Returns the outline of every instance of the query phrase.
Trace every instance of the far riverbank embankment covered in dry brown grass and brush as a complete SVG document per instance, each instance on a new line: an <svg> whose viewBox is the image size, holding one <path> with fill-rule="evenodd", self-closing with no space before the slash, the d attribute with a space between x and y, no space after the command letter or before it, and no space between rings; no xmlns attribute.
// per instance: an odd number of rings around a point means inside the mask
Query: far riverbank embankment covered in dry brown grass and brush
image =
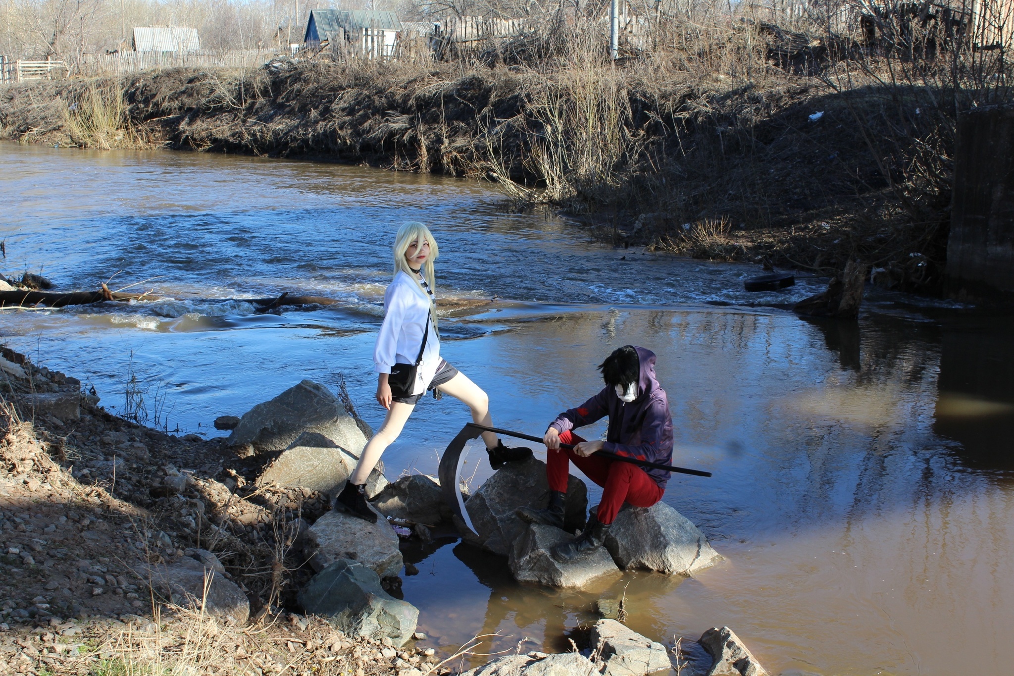
<svg viewBox="0 0 1014 676"><path fill-rule="evenodd" d="M621 245L824 274L858 258L887 286L937 289L954 114L927 106L933 87L898 98L860 69L845 73L848 86L764 65L726 70L177 69L9 86L0 138L490 179L519 208L578 216Z"/></svg>

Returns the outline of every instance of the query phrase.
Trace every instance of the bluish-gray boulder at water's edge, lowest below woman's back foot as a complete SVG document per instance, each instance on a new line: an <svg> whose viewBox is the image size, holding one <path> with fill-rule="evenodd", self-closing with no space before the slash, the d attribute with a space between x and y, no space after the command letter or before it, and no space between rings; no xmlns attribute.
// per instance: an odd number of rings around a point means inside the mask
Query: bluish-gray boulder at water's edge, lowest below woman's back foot
<svg viewBox="0 0 1014 676"><path fill-rule="evenodd" d="M347 558L313 576L298 600L307 614L330 618L349 635L373 641L386 636L397 646L412 637L419 619L419 609L385 592L376 573Z"/></svg>

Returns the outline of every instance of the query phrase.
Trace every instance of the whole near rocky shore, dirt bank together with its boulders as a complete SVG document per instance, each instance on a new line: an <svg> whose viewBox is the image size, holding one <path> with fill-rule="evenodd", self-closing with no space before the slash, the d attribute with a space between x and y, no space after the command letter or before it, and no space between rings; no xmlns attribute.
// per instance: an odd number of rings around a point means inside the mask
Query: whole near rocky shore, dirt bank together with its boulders
<svg viewBox="0 0 1014 676"><path fill-rule="evenodd" d="M205 440L111 416L80 386L0 348L0 674L463 670L469 646L418 632L419 611L400 594L401 543L453 527L436 480L388 482L378 467L376 524L329 509L371 434L347 397L302 381L219 419L230 435ZM721 558L659 504L625 510L597 558L560 566L548 548L583 526L587 490L571 477L570 532L522 523L514 510L540 500L545 482L529 460L466 502L478 533L462 526L465 541L505 556L518 581L687 576ZM643 676L678 664L622 623L622 604L600 610L579 652L499 657L468 673ZM727 627L700 643L709 674L765 673Z"/></svg>

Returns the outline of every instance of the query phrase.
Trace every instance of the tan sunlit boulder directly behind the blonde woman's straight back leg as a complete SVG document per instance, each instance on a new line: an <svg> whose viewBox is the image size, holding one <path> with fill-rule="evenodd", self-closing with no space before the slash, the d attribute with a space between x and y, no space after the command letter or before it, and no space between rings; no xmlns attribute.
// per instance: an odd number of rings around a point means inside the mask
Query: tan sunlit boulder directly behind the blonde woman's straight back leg
<svg viewBox="0 0 1014 676"><path fill-rule="evenodd" d="M265 467L257 484L309 489L334 496L345 485L358 461L358 456L319 432L304 432ZM378 462L366 480L366 497L373 498L386 485L383 463Z"/></svg>

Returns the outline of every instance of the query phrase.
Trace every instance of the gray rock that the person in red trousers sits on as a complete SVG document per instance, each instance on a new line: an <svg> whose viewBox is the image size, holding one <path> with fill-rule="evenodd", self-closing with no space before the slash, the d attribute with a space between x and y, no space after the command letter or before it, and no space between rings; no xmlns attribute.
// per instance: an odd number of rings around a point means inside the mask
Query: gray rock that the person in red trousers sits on
<svg viewBox="0 0 1014 676"><path fill-rule="evenodd" d="M665 503L648 509L625 506L605 537L605 546L625 571L692 576L722 560L704 533Z"/></svg>

